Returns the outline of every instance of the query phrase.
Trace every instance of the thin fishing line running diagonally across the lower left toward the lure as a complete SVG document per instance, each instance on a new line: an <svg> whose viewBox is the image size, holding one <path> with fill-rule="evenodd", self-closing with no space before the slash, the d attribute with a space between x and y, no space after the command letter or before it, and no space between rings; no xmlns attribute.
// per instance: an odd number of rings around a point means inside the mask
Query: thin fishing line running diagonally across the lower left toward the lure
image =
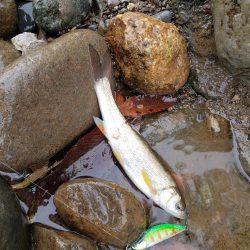
<svg viewBox="0 0 250 250"><path fill-rule="evenodd" d="M9 165L3 163L2 161L0 161L0 163L5 166L6 168L10 169L11 171L15 172L17 175L19 176L22 176L23 175L21 173L19 173L17 170L15 170L14 168L10 167ZM62 205L64 205L65 207L67 207L70 211L72 211L74 213L74 210L69 206L67 205L66 203L64 203L61 199L58 199L57 197L55 197L55 195L51 194L48 190L44 189L43 187L39 186L38 184L36 184L35 182L32 182L28 179L28 177L24 177L24 179L26 179L28 182L30 182L30 184L33 184L35 185L37 188L39 188L40 190L44 191L44 193L47 193L49 194L50 196L54 196L53 198L57 201L59 201ZM88 221L90 224L93 224L93 222L90 222L88 219L85 218L86 221ZM96 225L96 223L94 223L95 226L99 226L99 225ZM55 229L55 228L54 228ZM121 242L122 244L124 243L122 240L120 240L119 238L117 238L116 236L114 235L111 235L109 232L107 232L106 230L103 230L106 234L108 234L109 236L111 236L112 238L115 238L116 240L118 240L119 242ZM74 232L76 233L76 232ZM77 233L78 234L78 233ZM78 234L78 235L81 235L81 234Z"/></svg>

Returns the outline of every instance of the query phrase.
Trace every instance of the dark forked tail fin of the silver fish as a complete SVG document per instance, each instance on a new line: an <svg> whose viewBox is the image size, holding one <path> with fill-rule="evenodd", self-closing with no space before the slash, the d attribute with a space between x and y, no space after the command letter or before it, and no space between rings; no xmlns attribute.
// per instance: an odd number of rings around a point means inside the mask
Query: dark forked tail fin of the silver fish
<svg viewBox="0 0 250 250"><path fill-rule="evenodd" d="M109 51L106 50L101 60L96 49L89 44L89 54L95 84L102 78L106 77L109 79L112 71L112 61Z"/></svg>

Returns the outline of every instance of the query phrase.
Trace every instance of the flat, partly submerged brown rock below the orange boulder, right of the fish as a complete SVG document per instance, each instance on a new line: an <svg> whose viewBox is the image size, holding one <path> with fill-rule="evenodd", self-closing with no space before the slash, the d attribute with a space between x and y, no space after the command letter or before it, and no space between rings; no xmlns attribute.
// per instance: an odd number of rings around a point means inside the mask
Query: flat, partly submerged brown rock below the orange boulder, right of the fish
<svg viewBox="0 0 250 250"><path fill-rule="evenodd" d="M232 133L228 121L220 116L214 116L217 126L220 127L220 132L214 133L209 125L210 115L210 111L202 104L192 108L183 107L174 112L164 112L146 117L141 127L141 134L151 146L175 135L176 140L180 139L174 146L175 150L183 151L185 154L194 149L199 152L206 152L211 148L218 152L230 151ZM200 141L206 143L201 144Z"/></svg>

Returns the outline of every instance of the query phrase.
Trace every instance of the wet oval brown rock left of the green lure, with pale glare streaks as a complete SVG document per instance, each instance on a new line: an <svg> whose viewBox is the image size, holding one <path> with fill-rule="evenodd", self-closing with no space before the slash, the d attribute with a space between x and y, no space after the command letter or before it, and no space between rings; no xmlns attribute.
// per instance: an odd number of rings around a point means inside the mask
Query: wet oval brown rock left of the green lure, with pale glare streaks
<svg viewBox="0 0 250 250"><path fill-rule="evenodd" d="M56 191L54 203L67 225L116 247L125 247L146 227L143 206L113 182L96 178L70 181Z"/></svg>

